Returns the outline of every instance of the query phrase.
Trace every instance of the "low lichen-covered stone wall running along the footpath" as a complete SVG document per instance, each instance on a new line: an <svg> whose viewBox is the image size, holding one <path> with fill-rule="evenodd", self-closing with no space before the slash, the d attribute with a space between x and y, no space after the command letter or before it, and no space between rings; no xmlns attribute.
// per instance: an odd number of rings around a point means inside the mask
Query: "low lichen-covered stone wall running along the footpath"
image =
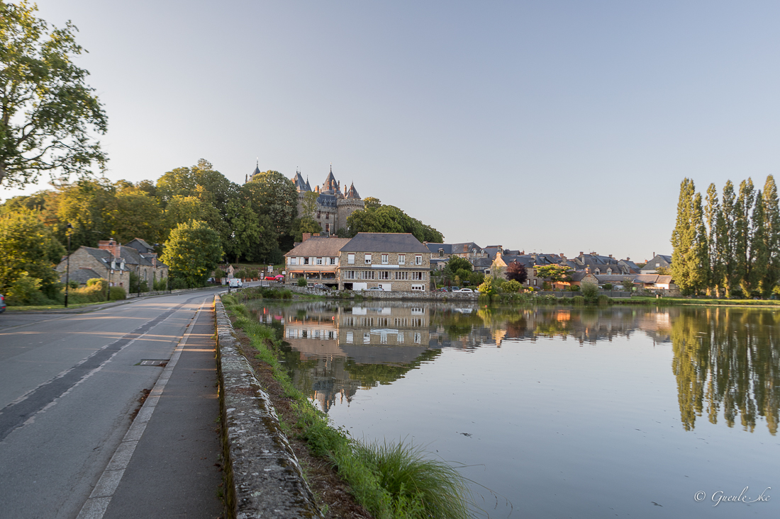
<svg viewBox="0 0 780 519"><path fill-rule="evenodd" d="M225 507L229 519L322 517L276 411L215 296Z"/></svg>

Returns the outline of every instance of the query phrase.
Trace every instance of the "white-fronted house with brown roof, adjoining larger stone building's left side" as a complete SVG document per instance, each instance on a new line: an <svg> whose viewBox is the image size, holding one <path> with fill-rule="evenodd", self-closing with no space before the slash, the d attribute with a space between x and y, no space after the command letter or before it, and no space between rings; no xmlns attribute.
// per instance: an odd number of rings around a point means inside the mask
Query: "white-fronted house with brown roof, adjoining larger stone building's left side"
<svg viewBox="0 0 780 519"><path fill-rule="evenodd" d="M303 233L303 242L285 254L286 281L296 282L299 277L310 284L321 283L330 287L339 284L339 249L349 242L349 238Z"/></svg>

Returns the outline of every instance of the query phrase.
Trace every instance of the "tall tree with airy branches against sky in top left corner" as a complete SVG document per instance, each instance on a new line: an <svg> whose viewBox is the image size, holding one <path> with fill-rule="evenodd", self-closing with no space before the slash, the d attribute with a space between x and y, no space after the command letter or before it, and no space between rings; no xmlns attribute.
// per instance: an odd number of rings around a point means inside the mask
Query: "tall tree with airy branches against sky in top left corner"
<svg viewBox="0 0 780 519"><path fill-rule="evenodd" d="M0 185L26 185L41 172L87 175L106 157L92 132L107 118L89 72L73 63L76 27L52 28L27 2L0 2Z"/></svg>

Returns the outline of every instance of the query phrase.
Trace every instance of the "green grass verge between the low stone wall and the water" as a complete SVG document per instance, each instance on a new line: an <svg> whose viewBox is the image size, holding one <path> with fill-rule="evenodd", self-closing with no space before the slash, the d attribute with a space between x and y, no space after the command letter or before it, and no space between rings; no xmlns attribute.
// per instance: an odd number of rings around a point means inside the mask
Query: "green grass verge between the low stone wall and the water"
<svg viewBox="0 0 780 519"><path fill-rule="evenodd" d="M278 361L280 341L271 327L250 318L235 295L223 295L225 309L236 319L233 326L250 337L257 357L265 362L293 400L297 434L310 451L324 457L347 482L356 500L377 519L470 517L471 499L466 480L444 461L432 460L411 443L364 444L345 429L331 425L296 387Z"/></svg>

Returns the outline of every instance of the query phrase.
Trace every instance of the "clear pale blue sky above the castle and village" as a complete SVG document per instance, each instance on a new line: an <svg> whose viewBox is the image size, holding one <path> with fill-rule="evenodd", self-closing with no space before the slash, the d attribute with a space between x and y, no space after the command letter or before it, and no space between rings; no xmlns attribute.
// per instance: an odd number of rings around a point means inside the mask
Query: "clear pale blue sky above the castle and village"
<svg viewBox="0 0 780 519"><path fill-rule="evenodd" d="M684 177L780 163L777 2L38 7L90 52L112 180L203 157L243 182L259 157L314 185L332 163L448 242L645 260L671 253Z"/></svg>

